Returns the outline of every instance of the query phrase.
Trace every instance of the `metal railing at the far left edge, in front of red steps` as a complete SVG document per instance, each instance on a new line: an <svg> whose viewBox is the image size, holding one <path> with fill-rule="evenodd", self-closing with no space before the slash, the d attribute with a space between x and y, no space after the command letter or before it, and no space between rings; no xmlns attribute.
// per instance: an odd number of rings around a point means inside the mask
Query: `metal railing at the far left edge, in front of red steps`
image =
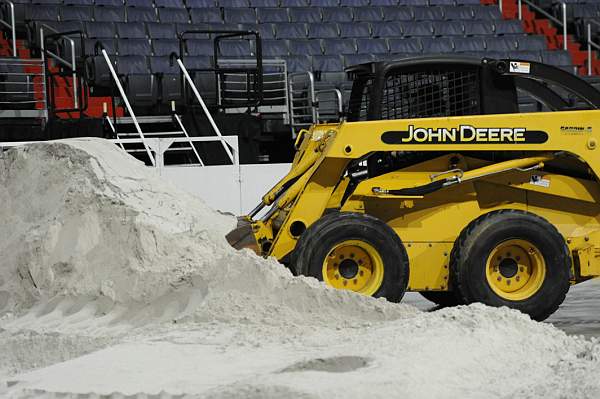
<svg viewBox="0 0 600 399"><path fill-rule="evenodd" d="M41 60L0 58L0 117L47 117Z"/></svg>

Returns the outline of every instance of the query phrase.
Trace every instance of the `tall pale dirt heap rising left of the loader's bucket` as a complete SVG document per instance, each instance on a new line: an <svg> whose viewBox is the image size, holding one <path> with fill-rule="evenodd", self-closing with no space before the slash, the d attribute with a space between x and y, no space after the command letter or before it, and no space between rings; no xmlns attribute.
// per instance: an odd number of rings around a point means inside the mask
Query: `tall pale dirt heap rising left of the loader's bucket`
<svg viewBox="0 0 600 399"><path fill-rule="evenodd" d="M157 312L182 321L259 322L414 313L293 278L273 260L235 251L224 239L233 217L167 184L105 140L8 151L0 163L0 203L6 227L0 229L0 312L66 316L93 303L96 316L111 313L112 323L135 324Z"/></svg>

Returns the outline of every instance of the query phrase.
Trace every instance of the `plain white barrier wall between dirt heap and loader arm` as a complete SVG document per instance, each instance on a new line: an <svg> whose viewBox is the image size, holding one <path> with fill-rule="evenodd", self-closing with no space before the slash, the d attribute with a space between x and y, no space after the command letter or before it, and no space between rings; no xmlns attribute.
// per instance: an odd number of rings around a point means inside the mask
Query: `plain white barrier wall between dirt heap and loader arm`
<svg viewBox="0 0 600 399"><path fill-rule="evenodd" d="M163 178L223 212L243 215L290 170L290 164L165 166Z"/></svg>

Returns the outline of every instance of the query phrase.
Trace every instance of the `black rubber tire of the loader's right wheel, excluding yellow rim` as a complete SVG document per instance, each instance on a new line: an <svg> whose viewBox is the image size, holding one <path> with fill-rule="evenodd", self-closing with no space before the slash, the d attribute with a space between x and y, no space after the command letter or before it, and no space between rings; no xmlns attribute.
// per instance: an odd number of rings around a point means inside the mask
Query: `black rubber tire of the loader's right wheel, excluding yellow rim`
<svg viewBox="0 0 600 399"><path fill-rule="evenodd" d="M524 299L511 300L498 295L486 277L488 258L495 248L509 240L532 244L543 259L545 274L540 286ZM558 230L545 219L518 210L494 211L475 219L456 240L450 260L453 282L465 303L507 306L539 321L548 318L564 301L570 287L570 268L569 250ZM505 278L510 280L511 276ZM499 276L498 281L501 279Z"/></svg>

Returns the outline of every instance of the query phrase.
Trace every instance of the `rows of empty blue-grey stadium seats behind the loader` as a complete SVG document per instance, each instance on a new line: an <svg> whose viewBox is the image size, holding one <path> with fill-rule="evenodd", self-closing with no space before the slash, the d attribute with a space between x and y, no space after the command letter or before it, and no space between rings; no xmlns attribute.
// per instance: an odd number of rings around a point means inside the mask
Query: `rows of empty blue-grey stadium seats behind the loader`
<svg viewBox="0 0 600 399"><path fill-rule="evenodd" d="M599 4L600 4L600 0ZM115 56L125 81L153 91L162 101L178 93L178 73L169 55L184 52L188 66L208 68L215 49L209 33L252 30L262 38L263 57L287 61L288 71L312 70L318 81L343 85L343 69L356 63L430 54L515 57L570 67L569 54L547 50L542 36L503 20L497 6L479 0L17 0L18 14L39 37L81 30L83 51L100 44ZM253 40L224 40L221 57L248 58ZM142 78L147 76L146 78ZM151 76L152 78L150 78ZM204 74L206 78L206 74ZM135 83L131 83L135 82ZM161 82L160 84L157 82ZM206 85L203 85L206 86ZM140 89L141 90L141 89Z"/></svg>

